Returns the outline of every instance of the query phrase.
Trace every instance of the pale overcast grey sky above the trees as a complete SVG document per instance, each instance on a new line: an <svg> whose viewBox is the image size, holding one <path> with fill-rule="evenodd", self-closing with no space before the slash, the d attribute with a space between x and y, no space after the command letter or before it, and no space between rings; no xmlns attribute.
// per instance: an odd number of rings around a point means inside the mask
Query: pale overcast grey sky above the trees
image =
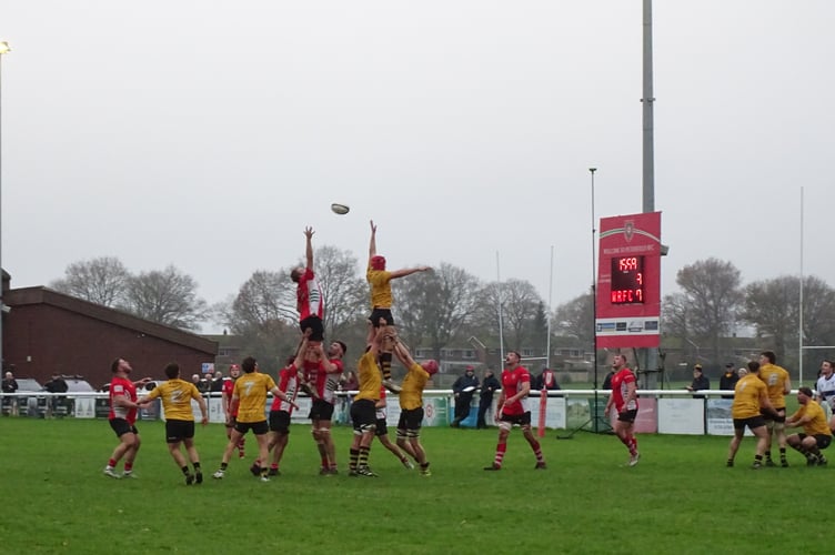
<svg viewBox="0 0 835 555"><path fill-rule="evenodd" d="M174 264L217 302L316 245L591 283L642 209L642 2L0 0L2 265ZM835 2L654 2L663 293L730 260L833 283ZM351 213L330 212L333 201ZM499 256L496 256L496 254ZM496 259L499 258L499 264ZM359 270L359 269L358 269Z"/></svg>

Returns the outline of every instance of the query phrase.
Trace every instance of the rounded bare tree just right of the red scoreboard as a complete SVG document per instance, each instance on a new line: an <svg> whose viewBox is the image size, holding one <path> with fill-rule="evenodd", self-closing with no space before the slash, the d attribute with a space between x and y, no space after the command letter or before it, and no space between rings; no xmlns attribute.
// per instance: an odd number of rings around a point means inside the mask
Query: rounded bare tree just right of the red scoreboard
<svg viewBox="0 0 835 555"><path fill-rule="evenodd" d="M686 299L690 329L711 343L717 361L720 339L732 330L743 301L740 271L731 262L707 259L678 270L676 283Z"/></svg>

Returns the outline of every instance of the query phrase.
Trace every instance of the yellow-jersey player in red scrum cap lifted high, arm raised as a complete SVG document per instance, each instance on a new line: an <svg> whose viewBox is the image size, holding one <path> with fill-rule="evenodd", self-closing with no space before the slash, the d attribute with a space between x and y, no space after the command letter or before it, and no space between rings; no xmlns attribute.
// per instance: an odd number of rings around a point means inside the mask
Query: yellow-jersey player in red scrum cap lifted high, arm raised
<svg viewBox="0 0 835 555"><path fill-rule="evenodd" d="M425 272L432 270L430 266L404 268L389 272L385 270L385 256L376 253L376 225L371 221L371 242L369 244L369 268L365 272L365 280L371 285L371 316L369 322L374 327L394 326L391 307L394 302L391 292L391 281L398 278L405 278L415 272ZM394 349L393 334L383 336L380 346L380 366L383 371L383 385L394 393L400 393L399 387L391 382L391 362L392 351Z"/></svg>

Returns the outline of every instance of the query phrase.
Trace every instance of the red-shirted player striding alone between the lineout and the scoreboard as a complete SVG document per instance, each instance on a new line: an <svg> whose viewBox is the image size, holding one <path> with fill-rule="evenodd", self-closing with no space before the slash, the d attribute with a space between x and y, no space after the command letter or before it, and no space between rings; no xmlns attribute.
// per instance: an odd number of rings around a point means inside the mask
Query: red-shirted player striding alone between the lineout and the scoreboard
<svg viewBox="0 0 835 555"><path fill-rule="evenodd" d="M496 423L499 424L499 444L496 445L493 464L485 466L485 471L501 471L504 453L507 451L507 436L514 425L522 427L529 445L536 455L536 470L545 470L547 465L542 456L542 447L531 431L531 408L527 406L527 394L531 392L531 374L527 369L520 366L522 356L516 351L510 351L504 357L502 371L502 393L496 406Z"/></svg>

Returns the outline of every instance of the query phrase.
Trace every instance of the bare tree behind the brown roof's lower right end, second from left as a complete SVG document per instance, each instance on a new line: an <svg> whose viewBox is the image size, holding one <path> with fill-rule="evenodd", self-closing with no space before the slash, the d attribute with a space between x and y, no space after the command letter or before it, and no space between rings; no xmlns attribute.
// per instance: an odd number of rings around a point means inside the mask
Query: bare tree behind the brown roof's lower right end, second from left
<svg viewBox="0 0 835 555"><path fill-rule="evenodd" d="M130 279L125 309L145 320L197 330L208 315L207 302L198 297L197 289L194 279L173 265L142 272Z"/></svg>

